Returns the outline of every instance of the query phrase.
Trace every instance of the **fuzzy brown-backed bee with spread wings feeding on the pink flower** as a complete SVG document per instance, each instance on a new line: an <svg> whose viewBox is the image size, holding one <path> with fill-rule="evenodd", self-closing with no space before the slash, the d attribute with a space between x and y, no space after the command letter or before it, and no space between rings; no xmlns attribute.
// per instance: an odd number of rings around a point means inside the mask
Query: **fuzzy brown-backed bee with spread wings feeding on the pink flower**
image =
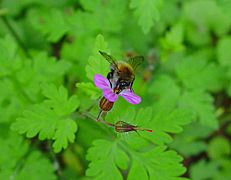
<svg viewBox="0 0 231 180"><path fill-rule="evenodd" d="M107 79L113 92L119 94L124 89L132 90L135 70L144 61L144 57L135 56L127 61L117 61L105 52L99 51L99 53L110 63L110 72L107 74Z"/></svg>

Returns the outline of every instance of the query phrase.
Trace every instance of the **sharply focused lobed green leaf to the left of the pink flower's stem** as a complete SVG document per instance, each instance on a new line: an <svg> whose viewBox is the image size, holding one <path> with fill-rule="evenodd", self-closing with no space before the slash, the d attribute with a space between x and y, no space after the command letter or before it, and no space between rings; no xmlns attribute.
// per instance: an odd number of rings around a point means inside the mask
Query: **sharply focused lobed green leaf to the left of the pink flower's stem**
<svg viewBox="0 0 231 180"><path fill-rule="evenodd" d="M67 90L60 86L43 85L44 95L48 98L25 110L23 117L12 124L12 129L31 138L39 135L40 140L54 139L54 151L60 152L68 142L74 142L77 125L70 118L79 106L76 96L68 98Z"/></svg>

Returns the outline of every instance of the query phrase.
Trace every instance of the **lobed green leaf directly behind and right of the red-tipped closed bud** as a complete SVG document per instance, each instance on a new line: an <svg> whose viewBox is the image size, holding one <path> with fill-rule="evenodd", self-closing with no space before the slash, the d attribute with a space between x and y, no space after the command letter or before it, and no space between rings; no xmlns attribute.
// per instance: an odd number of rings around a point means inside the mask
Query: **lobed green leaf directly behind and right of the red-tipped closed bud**
<svg viewBox="0 0 231 180"><path fill-rule="evenodd" d="M118 119L127 122L129 124L152 129L153 133L147 133L146 131L139 131L143 137L149 139L155 144L170 143L173 139L168 133L180 133L182 126L190 123L193 119L193 115L186 109L158 109L154 110L151 107L141 108L137 113L134 109L127 109L126 113L115 113L115 121ZM111 116L110 116L111 117ZM127 141L130 145L141 148L141 138L137 138L135 132L128 133ZM137 138L137 141L134 141ZM140 143L140 144L139 144Z"/></svg>

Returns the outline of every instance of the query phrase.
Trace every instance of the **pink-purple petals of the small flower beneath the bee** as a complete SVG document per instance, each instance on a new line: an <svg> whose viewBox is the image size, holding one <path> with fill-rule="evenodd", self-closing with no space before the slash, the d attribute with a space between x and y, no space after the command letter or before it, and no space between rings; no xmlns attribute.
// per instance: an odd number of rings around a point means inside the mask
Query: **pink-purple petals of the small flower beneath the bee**
<svg viewBox="0 0 231 180"><path fill-rule="evenodd" d="M110 102L115 102L118 96L122 96L131 104L139 104L141 102L141 98L130 89L124 89L119 94L115 94L110 86L108 79L99 74L94 76L94 83L103 91L104 97Z"/></svg>

